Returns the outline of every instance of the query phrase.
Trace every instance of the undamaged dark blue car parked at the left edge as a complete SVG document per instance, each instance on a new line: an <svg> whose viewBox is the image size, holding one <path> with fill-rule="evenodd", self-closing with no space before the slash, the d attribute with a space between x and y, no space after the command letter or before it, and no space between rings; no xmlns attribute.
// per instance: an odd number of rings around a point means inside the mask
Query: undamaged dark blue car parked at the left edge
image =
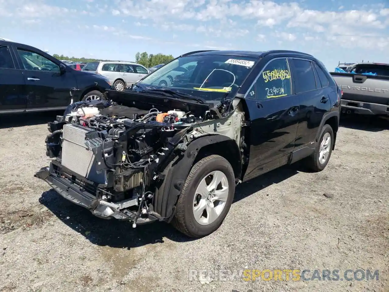
<svg viewBox="0 0 389 292"><path fill-rule="evenodd" d="M66 109L99 99L105 77L74 70L31 46L0 39L0 114Z"/></svg>

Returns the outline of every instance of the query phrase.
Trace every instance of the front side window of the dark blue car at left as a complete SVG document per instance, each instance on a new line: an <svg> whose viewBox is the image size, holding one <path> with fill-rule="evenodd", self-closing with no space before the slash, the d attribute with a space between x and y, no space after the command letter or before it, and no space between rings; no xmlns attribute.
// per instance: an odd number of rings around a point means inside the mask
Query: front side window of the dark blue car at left
<svg viewBox="0 0 389 292"><path fill-rule="evenodd" d="M56 63L42 55L23 49L18 49L18 54L25 70L60 72L60 67Z"/></svg>

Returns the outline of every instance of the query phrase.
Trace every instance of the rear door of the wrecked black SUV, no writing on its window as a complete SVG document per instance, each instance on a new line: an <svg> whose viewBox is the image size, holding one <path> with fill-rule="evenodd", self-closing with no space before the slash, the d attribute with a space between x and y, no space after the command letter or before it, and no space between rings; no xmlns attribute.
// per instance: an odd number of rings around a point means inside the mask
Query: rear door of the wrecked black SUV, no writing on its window
<svg viewBox="0 0 389 292"><path fill-rule="evenodd" d="M314 144L317 130L326 111L331 109L331 91L328 79L323 85L315 73L311 60L291 58L294 92L300 99L300 122L296 134L295 150ZM319 68L320 69L320 68Z"/></svg>

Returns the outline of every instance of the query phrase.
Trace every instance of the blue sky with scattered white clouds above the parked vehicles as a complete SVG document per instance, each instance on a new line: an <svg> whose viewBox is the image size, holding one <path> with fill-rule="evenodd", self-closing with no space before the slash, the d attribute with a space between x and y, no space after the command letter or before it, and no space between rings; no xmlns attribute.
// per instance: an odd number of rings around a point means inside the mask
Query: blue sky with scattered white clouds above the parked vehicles
<svg viewBox="0 0 389 292"><path fill-rule="evenodd" d="M19 23L51 25L53 18L63 17L61 21L69 22L69 30L71 25L80 25L82 33L86 28L77 22L79 18L95 23L96 33L164 44L173 40L177 46L194 46L187 43L197 38L215 40L212 44L196 44L200 47L224 47L225 42L234 40L233 44L242 48L255 47L255 42L266 46L279 42L289 47L310 44L321 48L328 43L348 48L351 43L353 47L389 49L389 8L384 3L352 6L334 2L333 11L319 11L306 9L308 2L302 4L303 0L286 1L83 0L77 9L71 9L74 6L70 2L61 2L60 7L50 0L18 0L17 4L0 0L0 23L2 18L12 16L22 19ZM56 24L60 25L59 21ZM142 35L131 34L134 26L137 30L142 27ZM145 26L153 29L145 33Z"/></svg>

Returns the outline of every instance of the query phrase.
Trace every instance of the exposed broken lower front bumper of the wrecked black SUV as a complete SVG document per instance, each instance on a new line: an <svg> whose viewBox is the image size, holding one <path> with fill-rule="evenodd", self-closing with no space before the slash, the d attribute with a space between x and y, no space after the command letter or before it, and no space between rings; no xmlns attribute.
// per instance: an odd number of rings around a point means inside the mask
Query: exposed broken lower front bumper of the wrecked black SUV
<svg viewBox="0 0 389 292"><path fill-rule="evenodd" d="M158 220L156 216L150 213L137 216L136 211L130 211L126 209L129 206L138 206L139 203L136 202L137 199L126 200L117 203L96 199L95 194L63 176L61 174L62 171L65 171L68 174L70 173L74 181L79 181L77 180L76 175L73 175L69 169L66 169L66 167L63 167L63 165L61 165L59 162L56 162L55 160L50 163L49 167L42 167L34 176L45 181L49 186L51 186L51 188L53 188L57 193L59 193L68 201L88 209L93 215L99 218L116 218L119 220L131 222L134 222L136 219L136 222L134 223L137 225ZM85 178L84 181L86 181ZM93 182L89 183L93 185ZM98 186L96 186L96 189L103 191Z"/></svg>

